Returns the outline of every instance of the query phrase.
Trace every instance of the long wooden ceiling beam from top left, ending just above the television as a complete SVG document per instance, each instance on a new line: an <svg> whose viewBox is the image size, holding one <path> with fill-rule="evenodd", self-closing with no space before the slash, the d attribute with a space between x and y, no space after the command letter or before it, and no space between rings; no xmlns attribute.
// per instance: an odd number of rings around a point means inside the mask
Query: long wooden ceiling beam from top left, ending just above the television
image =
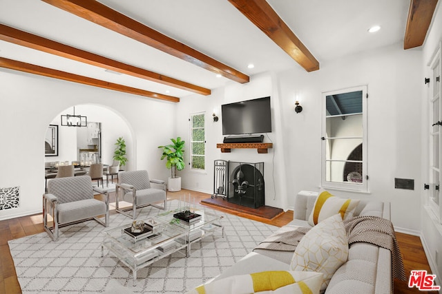
<svg viewBox="0 0 442 294"><path fill-rule="evenodd" d="M210 56L206 56L197 50L190 48L183 43L169 38L148 26L135 21L126 15L119 13L95 0L42 0L52 6L61 8L98 25L102 25L109 30L128 36L141 43L149 45L157 50L171 54L184 61L189 61L193 65L209 70L216 74L221 74L238 83L248 83L250 78L246 74L229 67L220 61L216 61Z"/></svg>

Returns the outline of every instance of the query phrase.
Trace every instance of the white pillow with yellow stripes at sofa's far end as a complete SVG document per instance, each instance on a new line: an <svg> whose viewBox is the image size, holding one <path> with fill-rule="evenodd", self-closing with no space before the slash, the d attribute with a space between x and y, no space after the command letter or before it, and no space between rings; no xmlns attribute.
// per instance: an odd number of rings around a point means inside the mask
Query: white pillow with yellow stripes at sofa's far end
<svg viewBox="0 0 442 294"><path fill-rule="evenodd" d="M321 191L318 198L316 198L308 222L313 227L336 213L340 213L343 220L352 218L358 204L359 200L339 198L328 191Z"/></svg>

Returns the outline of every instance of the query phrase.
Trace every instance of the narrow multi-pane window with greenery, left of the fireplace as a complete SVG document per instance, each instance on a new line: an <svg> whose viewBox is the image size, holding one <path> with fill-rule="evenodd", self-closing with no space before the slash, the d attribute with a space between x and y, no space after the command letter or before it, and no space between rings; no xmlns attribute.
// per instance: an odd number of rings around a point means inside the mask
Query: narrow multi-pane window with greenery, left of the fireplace
<svg viewBox="0 0 442 294"><path fill-rule="evenodd" d="M205 130L204 113L192 114L191 118L191 169L204 170L205 161Z"/></svg>

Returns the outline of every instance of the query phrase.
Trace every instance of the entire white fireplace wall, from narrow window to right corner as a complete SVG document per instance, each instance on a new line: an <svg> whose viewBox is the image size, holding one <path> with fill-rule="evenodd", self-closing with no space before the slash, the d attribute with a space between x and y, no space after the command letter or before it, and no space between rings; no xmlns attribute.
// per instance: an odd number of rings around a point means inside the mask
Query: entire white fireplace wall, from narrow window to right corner
<svg viewBox="0 0 442 294"><path fill-rule="evenodd" d="M367 85L369 193L335 191L338 196L390 202L392 221L398 231L419 234L421 187L421 112L416 97L421 95L421 50L403 50L395 44L382 50L363 52L322 63L317 72L296 67L277 74L252 76L246 85L229 84L209 97L190 96L178 105L177 133L189 140L191 112L206 112L206 173L182 171L183 187L213 192L213 160L265 162L266 204L293 207L300 190L320 187L321 93ZM273 142L269 154L233 149L221 154L221 123L213 123L213 108L233 101L271 95ZM294 112L298 100L304 110ZM218 110L218 116L220 116ZM189 162L189 159L186 159ZM411 178L414 190L394 189L394 178Z"/></svg>

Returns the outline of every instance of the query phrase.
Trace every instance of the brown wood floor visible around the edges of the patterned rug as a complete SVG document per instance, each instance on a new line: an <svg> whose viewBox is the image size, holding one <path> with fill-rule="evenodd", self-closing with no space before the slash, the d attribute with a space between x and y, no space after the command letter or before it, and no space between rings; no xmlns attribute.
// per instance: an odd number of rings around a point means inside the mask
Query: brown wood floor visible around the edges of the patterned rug
<svg viewBox="0 0 442 294"><path fill-rule="evenodd" d="M180 192L169 192L168 199L179 199L180 196L189 196L189 193L191 194L192 198L195 198L197 200L197 202L210 197L210 195L206 193L183 189ZM112 194L111 202L115 202L115 196L113 196ZM274 220L264 220L253 216L244 215L244 213L227 211L226 209L218 210L232 213L236 216L258 220L267 224L273 224L278 227L282 227L293 219L293 211L287 211L282 216L279 216ZM114 213L115 211L111 211L111 214ZM17 274L15 273L14 262L12 261L9 251L8 240L18 239L27 235L33 235L41 232L44 232L41 214L0 221L0 293L21 293L21 288L17 280ZM425 253L423 251L423 247L419 237L403 233L396 233L396 238L399 242L399 246L401 247L401 254L403 255L405 275L407 275L408 277L412 269L425 269L430 273L430 266L428 265L427 258L425 257ZM394 280L394 293L422 294L434 292L419 291L417 288L410 289L407 287L407 282Z"/></svg>

